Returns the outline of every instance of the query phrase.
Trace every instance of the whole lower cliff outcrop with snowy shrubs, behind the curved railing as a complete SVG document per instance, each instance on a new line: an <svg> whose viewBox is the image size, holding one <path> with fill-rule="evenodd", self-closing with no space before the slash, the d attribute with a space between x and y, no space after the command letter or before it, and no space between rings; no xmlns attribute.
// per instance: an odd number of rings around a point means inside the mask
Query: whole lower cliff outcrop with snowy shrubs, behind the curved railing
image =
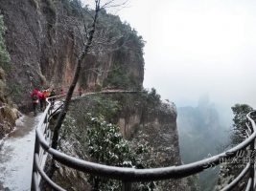
<svg viewBox="0 0 256 191"><path fill-rule="evenodd" d="M93 121L86 117L88 113ZM138 165L138 168L148 168L147 163L151 167L181 164L175 129L175 108L172 108L171 103L163 103L155 89L136 94L117 91L78 97L70 104L60 135L59 149L80 159L115 166ZM149 153L140 154L136 151L144 148L140 146L141 142L148 142L151 148ZM70 147L69 144L73 146ZM116 150L116 147L119 149ZM130 156L134 156L134 159ZM64 167L60 168L60 172L65 171L62 169ZM84 184L88 182L88 177L86 175L86 180L83 180ZM120 187L118 181L101 180L97 177L90 180L93 187L98 185L105 190ZM74 181L78 182L77 179L72 180L73 185ZM155 186L159 190L190 190L186 187L189 181L191 184L195 182L187 179L163 180L157 181ZM101 185L99 182L106 184ZM138 184L133 184L134 189L136 185ZM138 186L142 189L142 186L150 188L153 185L139 183ZM78 187L76 189L80 190Z"/></svg>

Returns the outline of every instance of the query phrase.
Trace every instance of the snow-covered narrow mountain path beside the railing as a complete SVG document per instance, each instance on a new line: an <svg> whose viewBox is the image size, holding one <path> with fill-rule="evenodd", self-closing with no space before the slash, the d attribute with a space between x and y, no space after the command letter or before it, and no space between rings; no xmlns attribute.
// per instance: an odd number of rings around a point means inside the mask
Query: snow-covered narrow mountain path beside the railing
<svg viewBox="0 0 256 191"><path fill-rule="evenodd" d="M31 190L35 126L42 113L20 117L0 147L0 191Z"/></svg>

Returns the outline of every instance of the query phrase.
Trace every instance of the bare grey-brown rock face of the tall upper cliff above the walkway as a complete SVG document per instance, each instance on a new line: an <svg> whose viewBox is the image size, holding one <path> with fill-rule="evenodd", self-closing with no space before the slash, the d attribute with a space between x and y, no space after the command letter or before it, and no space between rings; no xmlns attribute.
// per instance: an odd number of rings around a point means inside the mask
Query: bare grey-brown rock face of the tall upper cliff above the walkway
<svg viewBox="0 0 256 191"><path fill-rule="evenodd" d="M14 68L7 75L8 86L15 87L12 96L19 109L29 110L31 90L56 88L67 90L76 67L81 40L78 37L77 21L70 21L62 1L54 0L1 0L0 10L7 27L5 35L7 49ZM119 22L121 23L120 19ZM79 23L79 21L78 21ZM80 27L80 26L79 26ZM84 70L101 66L109 71L116 62L121 62L128 72L134 74L142 84L144 76L142 53L134 49L132 42L127 49L87 56ZM134 47L134 46L133 46ZM134 51L133 51L134 50ZM137 54L140 54L138 56ZM98 75L87 71L82 73L78 86L93 89L95 84L103 85L108 73ZM84 82L87 82L85 85ZM15 86L13 86L15 85Z"/></svg>

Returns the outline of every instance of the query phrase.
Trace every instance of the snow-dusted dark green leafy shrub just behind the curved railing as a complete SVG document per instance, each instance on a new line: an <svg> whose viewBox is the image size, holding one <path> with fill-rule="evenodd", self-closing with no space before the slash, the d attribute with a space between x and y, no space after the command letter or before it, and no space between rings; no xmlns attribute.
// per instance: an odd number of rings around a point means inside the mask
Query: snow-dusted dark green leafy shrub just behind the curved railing
<svg viewBox="0 0 256 191"><path fill-rule="evenodd" d="M120 133L120 127L106 123L103 117L88 117L88 154L94 162L109 166L145 169L150 168L144 159L148 153L147 144L131 146ZM89 176L92 190L121 190L121 181ZM134 191L153 190L153 182L139 183Z"/></svg>

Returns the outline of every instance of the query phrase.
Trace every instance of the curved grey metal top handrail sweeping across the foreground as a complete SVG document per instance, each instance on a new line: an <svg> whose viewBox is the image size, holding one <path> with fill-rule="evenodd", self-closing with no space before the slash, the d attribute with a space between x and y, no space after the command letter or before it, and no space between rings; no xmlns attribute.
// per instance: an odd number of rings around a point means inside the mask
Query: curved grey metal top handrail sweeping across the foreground
<svg viewBox="0 0 256 191"><path fill-rule="evenodd" d="M49 105L50 104L48 104L48 107L47 107L48 111L49 111ZM44 113L42 120L40 120L38 123L38 127L40 127L40 124L43 123L41 121L43 121L44 117L46 117L45 114L48 114L48 112ZM253 142L256 137L255 122L253 119L249 117L249 114L247 114L246 117L248 118L248 120L252 125L253 133L248 138L246 138L242 143L238 144L234 148L229 149L226 152L222 152L221 154L213 156L211 158L201 159L196 162L183 164L179 166L160 167L160 168L151 168L151 169L134 169L134 168L107 166L104 164L98 164L90 161L85 161L82 159L76 159L74 157L70 157L66 154L58 152L57 150L50 147L49 142L45 140L42 132L40 131L40 128L38 127L36 128L36 138L39 144L42 146L42 148L47 153L53 155L54 158L58 160L60 163L88 174L105 177L107 179L123 180L128 182L180 179L180 178L188 177L193 174L197 174L205 169L211 168L213 165L220 164L221 158L234 157L239 150L244 149L251 142ZM39 172L39 173L42 173L42 172ZM242 179L242 178L239 178L239 179Z"/></svg>

